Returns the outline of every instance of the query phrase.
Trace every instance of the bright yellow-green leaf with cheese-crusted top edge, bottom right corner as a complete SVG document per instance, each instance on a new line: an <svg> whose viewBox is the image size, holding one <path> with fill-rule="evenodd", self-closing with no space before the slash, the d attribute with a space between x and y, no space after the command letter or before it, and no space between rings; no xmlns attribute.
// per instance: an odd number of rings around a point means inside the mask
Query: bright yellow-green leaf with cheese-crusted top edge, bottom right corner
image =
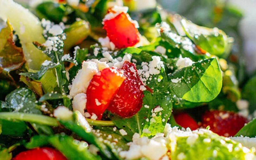
<svg viewBox="0 0 256 160"><path fill-rule="evenodd" d="M200 132L201 131L201 132ZM171 159L250 159L253 150L244 148L240 143L219 136L209 130L201 129L193 132L178 131L171 133ZM246 150L246 152L244 152ZM248 158L246 158L248 157Z"/></svg>

